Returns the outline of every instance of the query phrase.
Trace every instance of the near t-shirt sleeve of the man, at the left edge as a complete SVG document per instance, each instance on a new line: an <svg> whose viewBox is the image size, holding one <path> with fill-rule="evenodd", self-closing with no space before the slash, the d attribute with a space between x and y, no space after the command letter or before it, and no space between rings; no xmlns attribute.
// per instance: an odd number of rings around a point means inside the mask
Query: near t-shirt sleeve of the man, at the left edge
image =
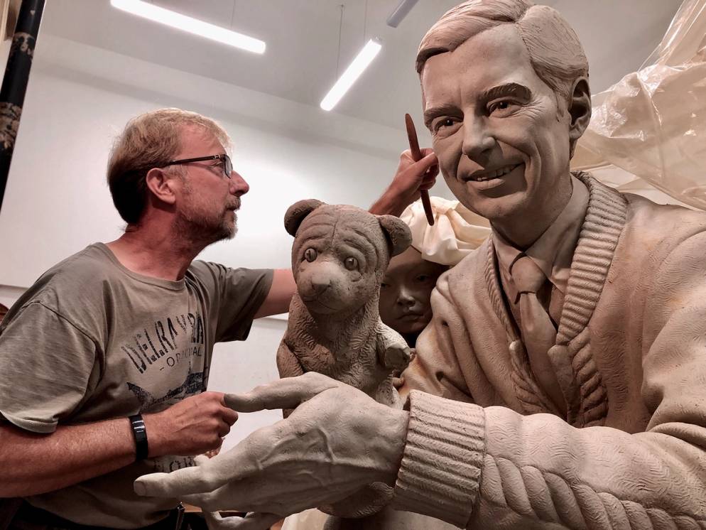
<svg viewBox="0 0 706 530"><path fill-rule="evenodd" d="M0 335L0 417L52 433L85 399L97 359L85 332L42 303L28 303Z"/></svg>

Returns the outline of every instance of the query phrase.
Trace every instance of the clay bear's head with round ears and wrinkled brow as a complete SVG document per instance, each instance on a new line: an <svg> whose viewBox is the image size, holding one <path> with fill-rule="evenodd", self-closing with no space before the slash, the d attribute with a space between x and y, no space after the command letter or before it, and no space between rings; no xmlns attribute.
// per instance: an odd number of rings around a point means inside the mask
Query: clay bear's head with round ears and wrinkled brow
<svg viewBox="0 0 706 530"><path fill-rule="evenodd" d="M292 270L310 313L351 315L366 304L377 307L391 256L411 243L407 225L392 215L361 208L295 202L284 225L292 234Z"/></svg>

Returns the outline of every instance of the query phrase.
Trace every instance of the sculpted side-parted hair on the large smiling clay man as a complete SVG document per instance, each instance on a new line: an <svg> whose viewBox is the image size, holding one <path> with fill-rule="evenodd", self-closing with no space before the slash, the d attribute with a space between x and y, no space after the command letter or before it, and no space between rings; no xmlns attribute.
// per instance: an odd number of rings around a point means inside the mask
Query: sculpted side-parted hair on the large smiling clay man
<svg viewBox="0 0 706 530"><path fill-rule="evenodd" d="M557 103L568 102L573 82L588 77L586 54L558 11L527 0L469 0L447 11L422 38L418 74L428 58L452 52L469 38L501 24L515 24L537 76L554 91Z"/></svg>

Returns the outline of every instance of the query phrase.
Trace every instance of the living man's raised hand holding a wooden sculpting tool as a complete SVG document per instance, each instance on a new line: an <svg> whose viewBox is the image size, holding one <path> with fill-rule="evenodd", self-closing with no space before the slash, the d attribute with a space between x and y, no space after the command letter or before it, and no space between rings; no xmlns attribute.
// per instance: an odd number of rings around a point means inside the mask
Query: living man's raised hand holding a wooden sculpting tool
<svg viewBox="0 0 706 530"><path fill-rule="evenodd" d="M411 151L400 155L397 173L381 197L370 207L376 215L401 215L420 196L420 190L430 189L439 173L439 161L430 148L421 149L423 158L413 161Z"/></svg>

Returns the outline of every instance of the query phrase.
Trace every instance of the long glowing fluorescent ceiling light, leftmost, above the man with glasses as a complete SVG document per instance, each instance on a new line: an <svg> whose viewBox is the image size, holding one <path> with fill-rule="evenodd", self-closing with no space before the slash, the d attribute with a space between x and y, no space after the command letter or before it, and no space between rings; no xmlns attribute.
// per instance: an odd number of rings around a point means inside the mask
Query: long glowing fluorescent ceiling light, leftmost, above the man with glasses
<svg viewBox="0 0 706 530"><path fill-rule="evenodd" d="M197 18L185 16L163 7L148 4L142 0L110 0L110 3L117 9L166 24L172 28L188 31L194 35L210 38L219 43L229 44L254 53L264 53L265 51L265 43L262 40L237 33L236 31L230 31L220 26L214 26L214 24L200 21Z"/></svg>

